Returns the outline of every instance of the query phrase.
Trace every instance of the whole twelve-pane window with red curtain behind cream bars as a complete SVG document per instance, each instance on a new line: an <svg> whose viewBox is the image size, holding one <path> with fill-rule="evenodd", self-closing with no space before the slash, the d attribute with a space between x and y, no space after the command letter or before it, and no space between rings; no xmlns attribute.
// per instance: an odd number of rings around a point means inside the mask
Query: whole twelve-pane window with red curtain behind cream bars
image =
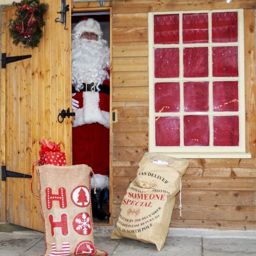
<svg viewBox="0 0 256 256"><path fill-rule="evenodd" d="M150 151L245 152L243 11L149 13Z"/></svg>

